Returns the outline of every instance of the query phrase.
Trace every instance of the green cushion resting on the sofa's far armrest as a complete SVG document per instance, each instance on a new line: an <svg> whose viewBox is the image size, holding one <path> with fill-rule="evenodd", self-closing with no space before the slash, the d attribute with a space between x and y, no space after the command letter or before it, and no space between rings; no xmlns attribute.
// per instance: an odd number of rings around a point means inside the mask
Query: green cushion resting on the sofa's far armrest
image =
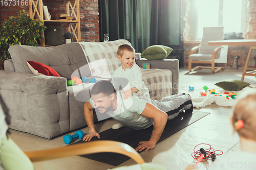
<svg viewBox="0 0 256 170"><path fill-rule="evenodd" d="M161 60L166 58L173 48L164 45L152 45L141 53L141 57L147 60Z"/></svg>

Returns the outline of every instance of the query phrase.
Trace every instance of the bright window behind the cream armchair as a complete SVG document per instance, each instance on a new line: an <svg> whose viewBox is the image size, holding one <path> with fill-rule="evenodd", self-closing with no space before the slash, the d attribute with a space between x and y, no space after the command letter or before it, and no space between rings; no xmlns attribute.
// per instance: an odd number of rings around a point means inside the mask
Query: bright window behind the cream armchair
<svg viewBox="0 0 256 170"><path fill-rule="evenodd" d="M223 26L225 32L243 32L243 0L195 0L196 40L202 39L203 27Z"/></svg>

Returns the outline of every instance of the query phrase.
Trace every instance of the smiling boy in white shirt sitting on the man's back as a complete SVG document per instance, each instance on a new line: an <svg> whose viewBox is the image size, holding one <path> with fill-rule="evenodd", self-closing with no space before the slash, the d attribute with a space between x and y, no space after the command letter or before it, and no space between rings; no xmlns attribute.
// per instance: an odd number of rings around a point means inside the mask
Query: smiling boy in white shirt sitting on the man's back
<svg viewBox="0 0 256 170"><path fill-rule="evenodd" d="M117 50L117 58L121 61L121 66L114 71L112 76L112 84L115 89L118 91L121 86L123 99L131 98L135 94L139 99L152 104L150 93L142 81L141 70L135 63L134 48L128 44L120 45ZM113 125L113 129L118 129L122 126L121 124L116 124Z"/></svg>

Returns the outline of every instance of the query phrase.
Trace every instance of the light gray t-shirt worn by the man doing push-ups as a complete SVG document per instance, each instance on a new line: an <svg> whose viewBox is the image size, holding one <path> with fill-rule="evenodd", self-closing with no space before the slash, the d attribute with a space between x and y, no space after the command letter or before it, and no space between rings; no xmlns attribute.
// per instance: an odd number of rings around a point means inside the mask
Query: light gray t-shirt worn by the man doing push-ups
<svg viewBox="0 0 256 170"><path fill-rule="evenodd" d="M134 94L132 98L124 100L121 91L117 91L116 97L117 109L115 111L108 110L105 112L106 114L113 117L117 122L124 126L135 130L146 129L153 125L150 118L141 115L145 109L146 101L139 99L138 96ZM92 107L96 108L93 104L92 98L90 99L90 103Z"/></svg>

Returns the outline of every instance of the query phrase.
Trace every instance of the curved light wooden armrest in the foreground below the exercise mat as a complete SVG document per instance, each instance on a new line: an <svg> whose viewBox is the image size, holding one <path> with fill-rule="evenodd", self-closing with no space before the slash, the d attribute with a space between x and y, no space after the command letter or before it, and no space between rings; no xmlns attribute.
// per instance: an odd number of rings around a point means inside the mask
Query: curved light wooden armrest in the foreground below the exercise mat
<svg viewBox="0 0 256 170"><path fill-rule="evenodd" d="M81 144L73 144L67 147L54 148L42 151L25 152L32 162L56 159L75 155L86 155L100 152L113 152L131 157L137 163L145 163L142 157L130 147L130 145L122 142L101 140L90 141Z"/></svg>

